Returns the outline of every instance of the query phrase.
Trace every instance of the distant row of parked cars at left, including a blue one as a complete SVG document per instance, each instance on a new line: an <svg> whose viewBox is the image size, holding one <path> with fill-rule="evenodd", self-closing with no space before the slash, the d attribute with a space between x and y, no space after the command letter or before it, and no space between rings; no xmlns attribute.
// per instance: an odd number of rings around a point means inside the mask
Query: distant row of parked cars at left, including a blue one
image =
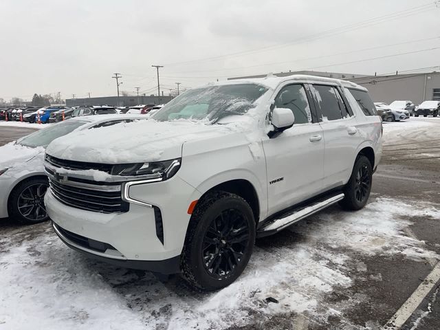
<svg viewBox="0 0 440 330"><path fill-rule="evenodd" d="M85 115L107 114L146 114L161 109L164 104L139 104L134 107L111 107L108 105L95 105L92 107L25 107L0 109L0 120L12 120L23 122L61 122L63 120Z"/></svg>

